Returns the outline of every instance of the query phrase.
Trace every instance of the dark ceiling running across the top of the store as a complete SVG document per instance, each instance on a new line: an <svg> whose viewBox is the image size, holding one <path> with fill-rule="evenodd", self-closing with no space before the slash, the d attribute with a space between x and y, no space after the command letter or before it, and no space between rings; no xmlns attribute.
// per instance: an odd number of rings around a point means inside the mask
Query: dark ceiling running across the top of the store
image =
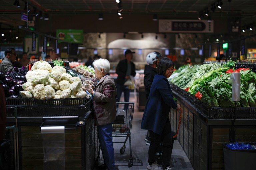
<svg viewBox="0 0 256 170"><path fill-rule="evenodd" d="M16 0L18 1L18 0ZM25 2L28 2L30 15L41 11L50 15L90 15L90 14L115 14L121 6L123 17L125 15L158 14L176 15L186 19L193 16L197 19L200 12L209 10L212 17L235 16L245 22L256 22L256 0L222 0L221 9L216 8L213 12L212 6L217 6L219 0L19 0L20 7L14 5L15 0L0 0L0 23L9 26L24 25L21 21L21 13ZM229 2L230 1L230 2ZM119 7L118 7L119 5ZM2 25L3 25L2 24ZM2 26L3 28L3 26Z"/></svg>

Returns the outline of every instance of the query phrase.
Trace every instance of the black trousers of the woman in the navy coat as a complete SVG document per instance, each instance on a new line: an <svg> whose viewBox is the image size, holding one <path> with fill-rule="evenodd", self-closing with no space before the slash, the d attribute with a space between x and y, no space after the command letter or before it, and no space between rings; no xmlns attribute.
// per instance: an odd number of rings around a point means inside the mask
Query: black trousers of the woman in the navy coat
<svg viewBox="0 0 256 170"><path fill-rule="evenodd" d="M151 143L148 149L148 163L151 165L156 161L156 152L160 146L160 143L162 142L162 167L164 170L166 167L170 166L172 152L172 128L169 118L166 120L162 134L154 133L152 130L149 130L149 133L151 137Z"/></svg>

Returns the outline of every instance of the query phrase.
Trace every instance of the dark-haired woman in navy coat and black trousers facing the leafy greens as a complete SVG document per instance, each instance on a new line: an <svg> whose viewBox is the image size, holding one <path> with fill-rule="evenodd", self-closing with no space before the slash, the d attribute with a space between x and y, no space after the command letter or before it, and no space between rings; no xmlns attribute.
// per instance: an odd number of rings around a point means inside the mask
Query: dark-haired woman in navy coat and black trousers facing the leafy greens
<svg viewBox="0 0 256 170"><path fill-rule="evenodd" d="M172 129L169 112L171 108L180 110L180 105L173 100L172 90L167 80L173 72L172 60L167 57L162 58L156 71L141 122L141 128L149 130L151 136L147 169L171 170ZM155 156L161 142L163 143L162 167L156 162Z"/></svg>

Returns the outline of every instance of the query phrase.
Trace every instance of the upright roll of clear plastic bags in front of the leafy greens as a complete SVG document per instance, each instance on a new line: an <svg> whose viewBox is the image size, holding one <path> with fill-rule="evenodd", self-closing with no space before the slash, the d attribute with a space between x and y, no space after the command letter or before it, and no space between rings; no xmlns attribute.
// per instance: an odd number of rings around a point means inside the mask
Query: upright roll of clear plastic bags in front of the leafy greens
<svg viewBox="0 0 256 170"><path fill-rule="evenodd" d="M240 101L240 78L241 78L241 73L232 73L230 75L230 80L232 83L232 101L234 102L239 102Z"/></svg>

